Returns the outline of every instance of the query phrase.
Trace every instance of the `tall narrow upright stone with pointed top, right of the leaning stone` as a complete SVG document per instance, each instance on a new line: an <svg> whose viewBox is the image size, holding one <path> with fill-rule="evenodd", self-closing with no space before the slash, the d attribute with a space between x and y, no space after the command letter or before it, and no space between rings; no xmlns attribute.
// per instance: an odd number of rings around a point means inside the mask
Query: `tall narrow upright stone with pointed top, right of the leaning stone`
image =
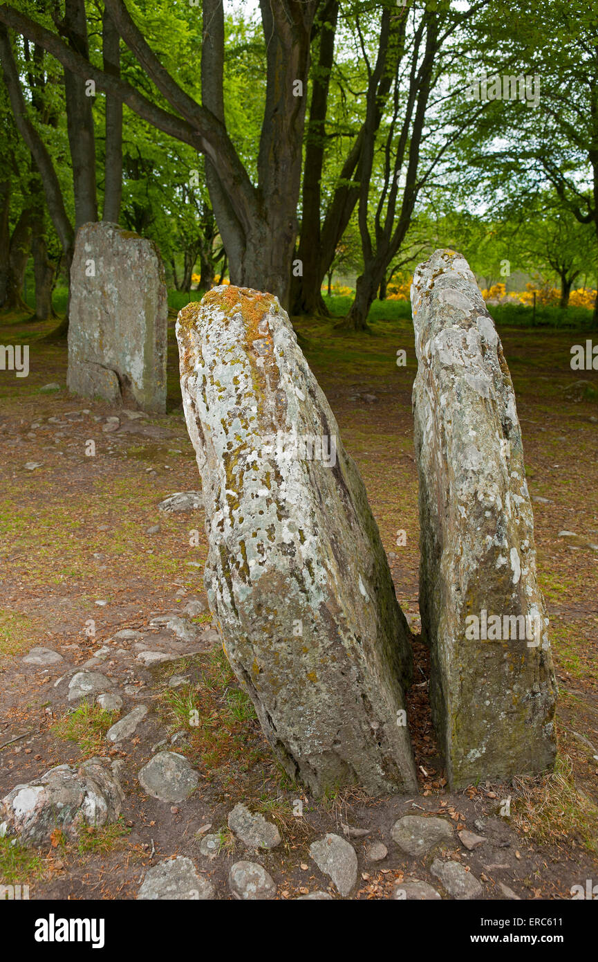
<svg viewBox="0 0 598 962"><path fill-rule="evenodd" d="M460 254L417 268L411 306L422 633L460 788L553 763L556 682L511 375Z"/></svg>

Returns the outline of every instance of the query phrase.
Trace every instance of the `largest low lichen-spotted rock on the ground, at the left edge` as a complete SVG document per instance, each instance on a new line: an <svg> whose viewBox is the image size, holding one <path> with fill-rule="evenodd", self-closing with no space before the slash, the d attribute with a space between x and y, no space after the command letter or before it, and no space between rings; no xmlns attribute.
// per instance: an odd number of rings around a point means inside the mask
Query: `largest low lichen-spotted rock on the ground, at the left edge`
<svg viewBox="0 0 598 962"><path fill-rule="evenodd" d="M116 822L123 801L117 777L100 758L89 758L79 769L59 765L16 785L0 801L0 835L18 835L24 845L41 846L59 828L73 840L86 825Z"/></svg>

